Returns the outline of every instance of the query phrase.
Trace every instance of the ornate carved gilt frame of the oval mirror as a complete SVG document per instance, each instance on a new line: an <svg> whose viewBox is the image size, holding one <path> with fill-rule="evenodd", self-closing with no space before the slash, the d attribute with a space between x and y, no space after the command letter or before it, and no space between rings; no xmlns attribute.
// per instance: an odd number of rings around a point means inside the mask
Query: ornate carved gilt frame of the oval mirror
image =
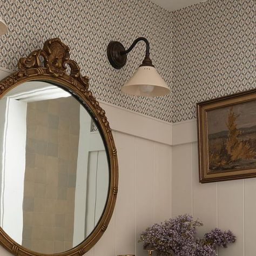
<svg viewBox="0 0 256 256"><path fill-rule="evenodd" d="M70 68L69 74L66 72L66 66ZM17 244L1 227L0 244L17 256L81 256L89 251L102 237L114 210L118 191L116 146L105 111L89 90L89 78L80 74L78 64L70 59L69 47L62 43L59 38L47 40L42 50L33 51L28 57L19 59L18 71L0 81L0 99L19 84L33 80L50 82L69 91L87 106L91 115L97 120L100 130L102 130L102 137L105 140L106 153L109 156L109 192L102 217L95 229L81 244L69 251L55 254L30 251L28 248Z"/></svg>

